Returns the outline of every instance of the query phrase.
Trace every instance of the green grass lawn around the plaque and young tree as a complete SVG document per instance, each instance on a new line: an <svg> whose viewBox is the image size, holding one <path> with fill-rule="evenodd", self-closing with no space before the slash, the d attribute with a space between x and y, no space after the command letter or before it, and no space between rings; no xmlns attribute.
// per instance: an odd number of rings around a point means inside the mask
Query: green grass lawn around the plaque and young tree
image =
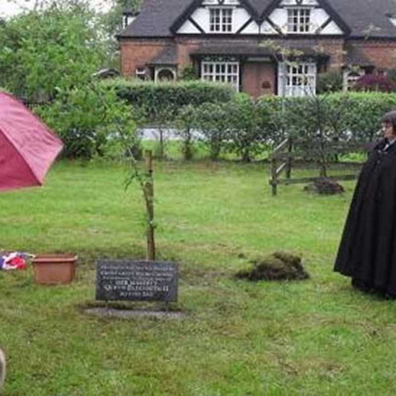
<svg viewBox="0 0 396 396"><path fill-rule="evenodd" d="M395 394L395 302L333 272L354 182L343 196L293 185L274 198L265 164L156 162L158 258L180 264L173 308L187 317L89 316L95 260L144 256L143 199L124 177L118 165L62 161L45 187L1 194L0 247L77 253L80 264L69 286L35 285L31 268L0 272L3 395ZM301 254L311 278L234 278L279 249Z"/></svg>

